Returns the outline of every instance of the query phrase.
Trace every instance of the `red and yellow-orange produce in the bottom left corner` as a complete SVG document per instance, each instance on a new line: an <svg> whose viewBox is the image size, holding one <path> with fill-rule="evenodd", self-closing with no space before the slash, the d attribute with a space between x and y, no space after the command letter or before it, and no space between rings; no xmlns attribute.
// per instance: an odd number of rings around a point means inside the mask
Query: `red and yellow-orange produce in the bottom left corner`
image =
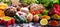
<svg viewBox="0 0 60 27"><path fill-rule="evenodd" d="M13 25L15 23L15 20L14 20L14 18L4 16L4 17L2 17L0 23L5 24L6 27L8 27L9 25Z"/></svg>

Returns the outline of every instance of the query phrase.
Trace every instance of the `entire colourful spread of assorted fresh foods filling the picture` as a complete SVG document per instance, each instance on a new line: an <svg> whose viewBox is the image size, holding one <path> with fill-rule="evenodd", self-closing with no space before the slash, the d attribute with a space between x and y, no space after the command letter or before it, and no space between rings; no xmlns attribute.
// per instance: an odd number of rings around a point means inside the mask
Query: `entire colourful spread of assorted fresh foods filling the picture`
<svg viewBox="0 0 60 27"><path fill-rule="evenodd" d="M0 24L8 27L32 22L40 26L60 26L59 0L18 1L19 4L14 4L10 0L0 0Z"/></svg>

